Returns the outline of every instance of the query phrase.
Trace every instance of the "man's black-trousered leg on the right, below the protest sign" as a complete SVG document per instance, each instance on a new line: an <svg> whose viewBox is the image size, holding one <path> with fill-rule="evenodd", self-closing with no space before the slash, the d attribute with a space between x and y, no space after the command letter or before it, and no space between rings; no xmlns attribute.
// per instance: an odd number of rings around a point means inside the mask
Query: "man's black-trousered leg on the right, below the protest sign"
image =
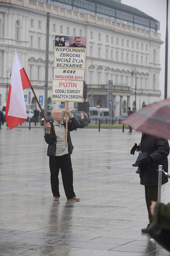
<svg viewBox="0 0 170 256"><path fill-rule="evenodd" d="M70 155L63 155L61 157L61 175L66 197L71 199L76 195L73 189L73 170Z"/></svg>

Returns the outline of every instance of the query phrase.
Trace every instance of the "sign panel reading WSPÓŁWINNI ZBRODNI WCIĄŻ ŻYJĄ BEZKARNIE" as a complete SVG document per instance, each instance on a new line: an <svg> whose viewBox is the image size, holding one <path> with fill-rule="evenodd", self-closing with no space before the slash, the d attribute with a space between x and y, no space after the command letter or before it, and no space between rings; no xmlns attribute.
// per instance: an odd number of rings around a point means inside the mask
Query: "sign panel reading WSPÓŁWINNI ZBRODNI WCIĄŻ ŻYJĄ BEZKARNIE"
<svg viewBox="0 0 170 256"><path fill-rule="evenodd" d="M54 67L85 68L86 48L55 47Z"/></svg>

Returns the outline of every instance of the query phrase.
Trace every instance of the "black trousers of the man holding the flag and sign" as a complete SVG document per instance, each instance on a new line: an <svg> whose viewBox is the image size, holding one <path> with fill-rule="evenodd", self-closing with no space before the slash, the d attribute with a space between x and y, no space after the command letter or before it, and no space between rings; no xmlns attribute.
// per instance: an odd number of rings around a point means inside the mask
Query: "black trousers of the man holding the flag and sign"
<svg viewBox="0 0 170 256"><path fill-rule="evenodd" d="M50 156L51 190L53 196L60 197L58 174L61 170L62 182L67 199L76 196L73 190L73 170L70 155Z"/></svg>

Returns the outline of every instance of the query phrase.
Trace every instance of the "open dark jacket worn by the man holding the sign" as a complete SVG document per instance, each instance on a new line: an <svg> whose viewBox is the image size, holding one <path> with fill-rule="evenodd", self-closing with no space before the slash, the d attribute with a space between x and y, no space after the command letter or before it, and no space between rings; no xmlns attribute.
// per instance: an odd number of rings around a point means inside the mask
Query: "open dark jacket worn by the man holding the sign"
<svg viewBox="0 0 170 256"><path fill-rule="evenodd" d="M48 144L48 149L47 149L47 155L48 156L55 156L56 155L57 137L56 137L56 134L55 134L53 121L54 120L52 120L49 123L51 125L51 131L52 131L54 137L52 137L51 134L47 134L46 129L45 129L45 135L44 135L45 141ZM66 120L63 120L63 124L66 128ZM72 151L73 151L73 145L72 145L72 142L71 142L70 132L76 130L79 126L80 126L79 120L75 116L72 117L71 120L68 120L67 141L68 141L68 154L69 155L71 155Z"/></svg>

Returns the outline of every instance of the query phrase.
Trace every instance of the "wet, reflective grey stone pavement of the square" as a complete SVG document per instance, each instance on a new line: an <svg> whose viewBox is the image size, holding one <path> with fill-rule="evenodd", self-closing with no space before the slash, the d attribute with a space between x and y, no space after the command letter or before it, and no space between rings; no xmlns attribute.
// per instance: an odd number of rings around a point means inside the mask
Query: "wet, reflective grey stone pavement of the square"
<svg viewBox="0 0 170 256"><path fill-rule="evenodd" d="M144 186L130 155L141 134L78 129L71 133L74 190L80 202L53 201L43 129L0 131L0 255L169 255L141 228ZM162 201L170 202L170 182Z"/></svg>

